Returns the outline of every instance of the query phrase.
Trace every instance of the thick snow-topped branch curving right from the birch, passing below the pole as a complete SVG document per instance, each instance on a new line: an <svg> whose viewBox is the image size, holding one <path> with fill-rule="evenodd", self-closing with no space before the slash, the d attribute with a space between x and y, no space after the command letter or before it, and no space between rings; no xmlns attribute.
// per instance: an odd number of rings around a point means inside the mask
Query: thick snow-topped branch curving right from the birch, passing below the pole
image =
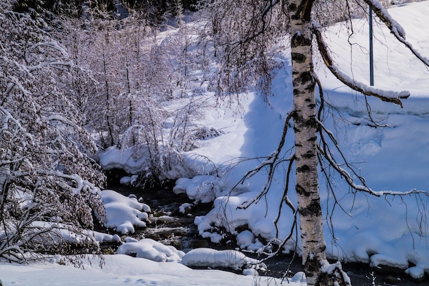
<svg viewBox="0 0 429 286"><path fill-rule="evenodd" d="M350 78L349 75L343 73L339 67L332 60L332 56L330 55L330 51L328 46L323 41L323 36L321 34L321 27L318 23L313 22L313 32L316 36L317 45L319 46L319 51L323 58L323 62L325 62L326 67L331 71L331 73L339 79L343 84L349 86L350 88L363 93L364 95L369 95L372 97L377 97L381 99L383 102L393 102L394 104L398 104L402 107L401 99L406 99L410 96L409 91L384 91L380 88L373 88L362 82L358 82L353 78Z"/></svg>

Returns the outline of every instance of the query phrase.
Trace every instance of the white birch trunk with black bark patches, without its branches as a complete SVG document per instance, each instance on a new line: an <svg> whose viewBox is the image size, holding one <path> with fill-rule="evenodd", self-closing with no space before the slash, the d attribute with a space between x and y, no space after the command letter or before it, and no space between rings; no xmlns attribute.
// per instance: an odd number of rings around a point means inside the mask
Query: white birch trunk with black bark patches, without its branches
<svg viewBox="0 0 429 286"><path fill-rule="evenodd" d="M302 265L307 285L319 285L321 263L326 261L319 198L315 78L312 64L311 1L289 6L293 103L295 105L296 191L302 239Z"/></svg>

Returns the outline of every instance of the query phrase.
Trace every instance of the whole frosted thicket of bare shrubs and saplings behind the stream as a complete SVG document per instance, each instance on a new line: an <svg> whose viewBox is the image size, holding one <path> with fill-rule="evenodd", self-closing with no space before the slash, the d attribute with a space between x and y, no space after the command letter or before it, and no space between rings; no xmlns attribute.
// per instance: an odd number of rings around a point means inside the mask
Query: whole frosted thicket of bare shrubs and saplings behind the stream
<svg viewBox="0 0 429 286"><path fill-rule="evenodd" d="M88 128L101 146L115 145L140 163L131 173L139 175L134 185L189 176L181 153L221 134L195 124L206 102L200 99L205 87L197 71L204 56L193 26L158 35L131 17L120 26L117 21L93 25L95 34L66 27L73 37L64 40L75 52L73 60L92 69L98 82L84 99Z"/></svg>

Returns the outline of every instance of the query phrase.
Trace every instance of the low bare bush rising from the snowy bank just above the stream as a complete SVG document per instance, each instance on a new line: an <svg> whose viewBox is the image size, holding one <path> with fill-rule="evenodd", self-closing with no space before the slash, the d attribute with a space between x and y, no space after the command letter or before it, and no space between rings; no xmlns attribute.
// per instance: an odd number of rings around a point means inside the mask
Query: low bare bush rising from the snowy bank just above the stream
<svg viewBox="0 0 429 286"><path fill-rule="evenodd" d="M202 108L204 102L197 100L173 112L167 108L145 108L138 117L140 123L125 131L119 147L110 147L101 155L101 166L138 174L138 178L128 182L139 187L151 180L159 182L195 176L199 171L204 173L188 166L182 156L183 152L198 147L201 140L222 134L215 128L198 128L193 123Z"/></svg>

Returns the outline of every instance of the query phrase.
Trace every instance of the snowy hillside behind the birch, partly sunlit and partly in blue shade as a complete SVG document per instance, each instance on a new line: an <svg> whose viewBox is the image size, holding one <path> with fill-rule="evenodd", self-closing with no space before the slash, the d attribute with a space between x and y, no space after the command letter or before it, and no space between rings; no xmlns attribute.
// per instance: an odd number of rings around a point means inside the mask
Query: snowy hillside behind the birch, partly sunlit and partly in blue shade
<svg viewBox="0 0 429 286"><path fill-rule="evenodd" d="M425 55L427 51L424 47L429 46L429 31L424 15L429 13L429 3L424 1L395 6L389 12L404 25L410 43ZM345 24L331 27L326 34L341 69L368 84L367 25L366 21L353 21L352 45L347 41L350 29ZM415 188L429 191L429 91L426 88L429 86L429 71L405 47L396 43L387 29L379 24L374 29L375 87L391 91L408 90L411 96L404 100L404 108L367 98L373 119L390 126L374 128L369 120L365 97L335 80L319 64L317 73L324 96L335 112L343 117L336 123L327 119L326 126L338 136L345 156L354 163L359 174L365 176L372 189L408 191ZM279 58L284 61L284 69L278 71L273 82L274 97L269 99L270 105L264 104L258 95L249 94L243 96L241 104L245 112L241 116L231 117L228 110L217 113L217 116L211 112L206 118L213 120L205 124L222 128L226 134L210 139L204 147L189 154L190 157L195 153L207 156L217 165L232 163L232 158L236 158L235 163L242 162L234 165L219 182L216 181L220 191L215 208L208 215L195 219L200 234L210 237L212 241L223 239L224 229L239 234L238 227L249 226L254 236L248 240L247 246L260 250L261 237L269 240L279 231L278 237L284 239L292 227L292 212L287 207L283 208L279 229L273 226L284 189L286 167L279 168L271 191L258 204L238 208L258 195L265 184L266 174L263 172L238 184L232 194L228 193L247 170L259 165L264 158L247 159L268 156L279 142L286 112L291 108L290 59L287 53ZM292 146L293 134L286 141ZM333 178L335 198L327 191L325 181L321 180L323 212L326 215L324 231L331 257L343 261L363 261L373 266L391 265L404 270L413 267L408 272L413 270L415 276L429 272L426 195L420 198L410 195L375 198L354 193L339 176ZM193 178L193 187L197 185L197 180ZM201 177L201 182L207 184L207 178ZM182 185L181 188L186 189L186 186ZM289 197L295 201L293 191L289 191ZM334 200L339 204L334 204ZM286 250L293 250L293 239L286 245Z"/></svg>

